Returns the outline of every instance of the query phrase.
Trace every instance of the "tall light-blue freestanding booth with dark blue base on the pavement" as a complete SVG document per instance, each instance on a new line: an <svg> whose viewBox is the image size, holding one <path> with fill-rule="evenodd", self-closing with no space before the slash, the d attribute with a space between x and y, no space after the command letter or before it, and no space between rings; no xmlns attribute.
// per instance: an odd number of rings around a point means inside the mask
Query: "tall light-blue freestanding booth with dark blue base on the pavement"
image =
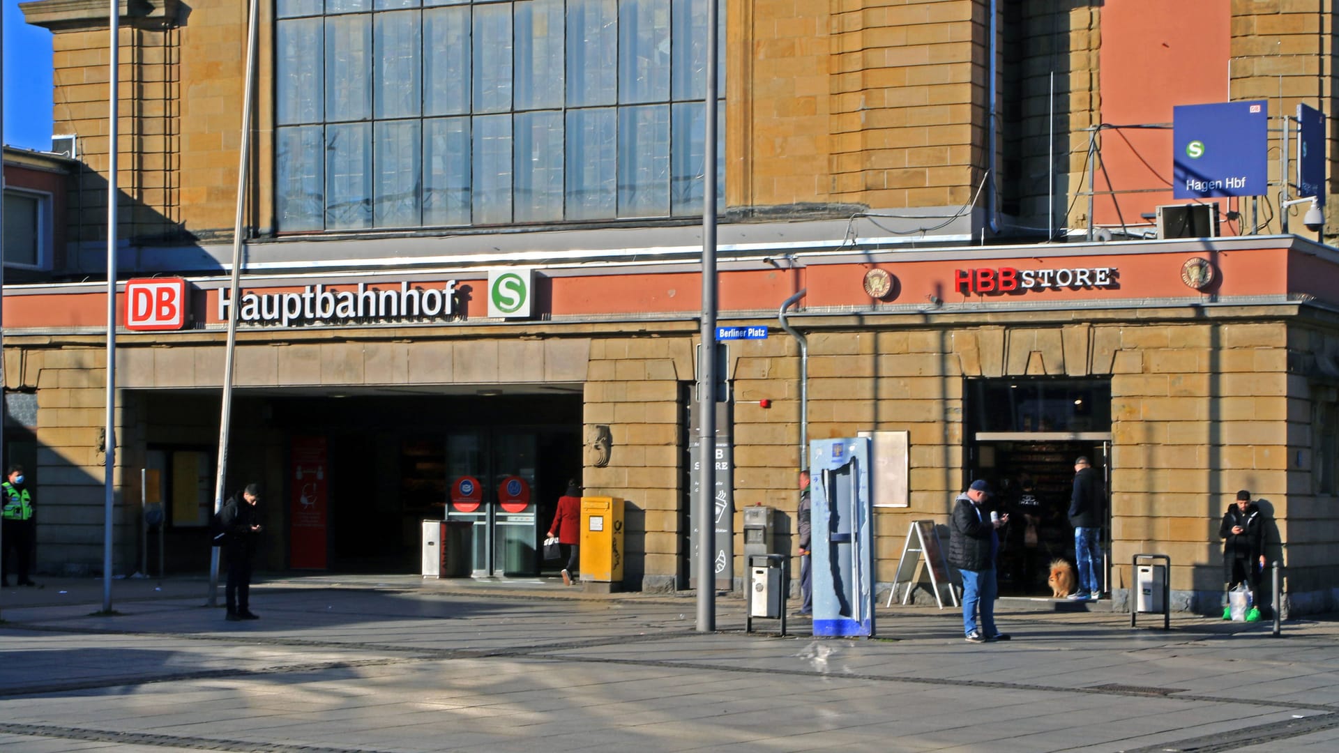
<svg viewBox="0 0 1339 753"><path fill-rule="evenodd" d="M874 634L869 438L809 443L814 635Z"/></svg>

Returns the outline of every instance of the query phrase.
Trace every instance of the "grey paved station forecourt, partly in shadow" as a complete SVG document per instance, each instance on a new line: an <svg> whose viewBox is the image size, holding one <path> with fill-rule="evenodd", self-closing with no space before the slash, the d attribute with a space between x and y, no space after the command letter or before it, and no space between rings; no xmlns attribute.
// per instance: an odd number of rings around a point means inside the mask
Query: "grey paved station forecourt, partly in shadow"
<svg viewBox="0 0 1339 753"><path fill-rule="evenodd" d="M103 587L0 591L7 753L1339 750L1332 619L1006 600L1014 639L969 644L953 608L783 638L720 596L698 632L692 595L557 579L266 576L241 623L200 579L114 581L111 616Z"/></svg>

